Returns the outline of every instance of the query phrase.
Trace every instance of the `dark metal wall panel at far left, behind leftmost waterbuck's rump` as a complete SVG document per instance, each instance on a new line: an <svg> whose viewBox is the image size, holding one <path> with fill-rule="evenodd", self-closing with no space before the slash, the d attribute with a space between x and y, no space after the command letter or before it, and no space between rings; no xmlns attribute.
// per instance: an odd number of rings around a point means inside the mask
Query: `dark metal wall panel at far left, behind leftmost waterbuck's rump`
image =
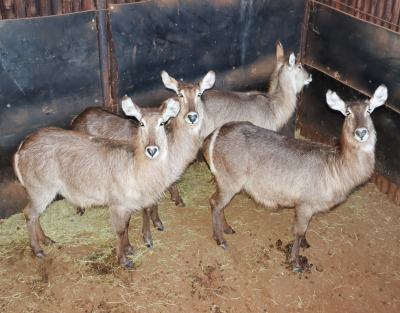
<svg viewBox="0 0 400 313"><path fill-rule="evenodd" d="M102 104L95 14L0 21L0 218L26 203L11 167L21 141Z"/></svg>

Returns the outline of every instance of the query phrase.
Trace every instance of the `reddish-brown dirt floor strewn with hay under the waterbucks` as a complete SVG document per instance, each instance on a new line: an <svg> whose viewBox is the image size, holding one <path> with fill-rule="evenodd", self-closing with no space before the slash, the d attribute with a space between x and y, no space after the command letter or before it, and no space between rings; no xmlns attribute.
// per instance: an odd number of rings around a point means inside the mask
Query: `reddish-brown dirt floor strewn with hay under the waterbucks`
<svg viewBox="0 0 400 313"><path fill-rule="evenodd" d="M65 200L41 218L57 241L46 259L29 249L22 214L0 220L1 312L400 312L400 208L368 184L313 218L302 275L287 268L293 210L271 212L245 194L226 208L227 251L212 238L205 163L179 183L186 207L160 203L165 231L143 245L132 217L132 270L118 265L105 208L83 216ZM308 261L308 262L307 262Z"/></svg>

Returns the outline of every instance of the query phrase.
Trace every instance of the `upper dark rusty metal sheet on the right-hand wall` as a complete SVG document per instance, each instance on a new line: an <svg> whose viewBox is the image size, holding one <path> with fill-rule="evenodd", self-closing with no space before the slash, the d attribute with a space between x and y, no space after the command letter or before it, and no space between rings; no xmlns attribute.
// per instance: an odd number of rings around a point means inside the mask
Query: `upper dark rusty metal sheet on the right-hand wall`
<svg viewBox="0 0 400 313"><path fill-rule="evenodd" d="M400 34L312 2L305 63L371 96L389 90L400 112Z"/></svg>

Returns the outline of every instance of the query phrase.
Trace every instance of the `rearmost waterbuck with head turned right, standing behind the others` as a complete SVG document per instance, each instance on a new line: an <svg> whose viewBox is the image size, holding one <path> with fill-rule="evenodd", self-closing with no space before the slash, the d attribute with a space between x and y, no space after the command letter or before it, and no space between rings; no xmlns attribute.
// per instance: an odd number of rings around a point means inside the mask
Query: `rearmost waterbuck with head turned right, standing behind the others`
<svg viewBox="0 0 400 313"><path fill-rule="evenodd" d="M271 74L268 92L234 92L212 89L204 93L186 93L184 84L178 83L166 72L162 79L165 87L172 89L188 103L204 102L205 114L201 130L204 140L212 131L225 123L249 121L254 125L279 130L292 116L296 108L297 94L312 81L311 75L296 61L293 53L284 56L282 44L276 42L277 62ZM182 101L180 101L182 105Z"/></svg>

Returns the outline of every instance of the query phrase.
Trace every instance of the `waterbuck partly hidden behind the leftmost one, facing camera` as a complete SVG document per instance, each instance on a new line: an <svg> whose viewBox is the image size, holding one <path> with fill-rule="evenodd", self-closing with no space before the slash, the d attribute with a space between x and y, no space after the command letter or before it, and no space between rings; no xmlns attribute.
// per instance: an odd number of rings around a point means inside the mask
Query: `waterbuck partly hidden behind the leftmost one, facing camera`
<svg viewBox="0 0 400 313"><path fill-rule="evenodd" d="M164 73L164 72L163 72ZM215 81L214 72L210 71L198 84L186 83L182 87L182 92L191 95L199 94L213 86ZM180 102L180 112L175 119L171 119L166 124L166 130L171 133L170 140L170 164L171 177L178 180L186 167L192 162L201 144L199 142L200 130L203 123L204 109L201 99L193 102L182 101L175 96L173 99ZM113 140L134 141L138 136L137 126L126 118L111 113L104 108L89 107L71 122L71 129L85 132L96 137L108 138ZM170 188L171 198L176 205L185 206L179 196L177 184L174 182ZM149 218L154 227L164 230L161 220L158 217L158 207L156 204L143 210L143 230L142 236L144 244L151 248L153 246Z"/></svg>

